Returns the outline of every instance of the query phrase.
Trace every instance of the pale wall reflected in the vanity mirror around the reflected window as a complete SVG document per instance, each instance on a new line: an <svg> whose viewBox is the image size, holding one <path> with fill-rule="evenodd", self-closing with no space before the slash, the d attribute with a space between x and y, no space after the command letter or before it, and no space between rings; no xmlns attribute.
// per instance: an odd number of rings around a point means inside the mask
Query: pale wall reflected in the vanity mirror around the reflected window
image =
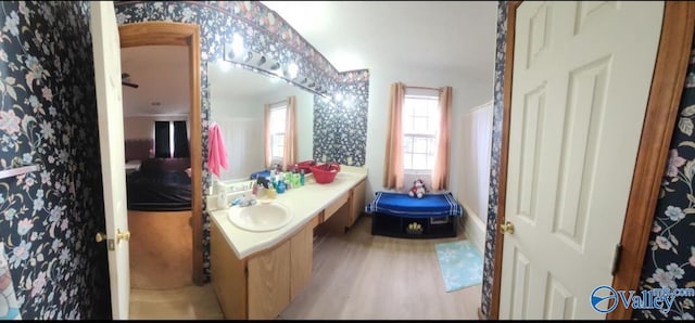
<svg viewBox="0 0 695 323"><path fill-rule="evenodd" d="M314 137L314 94L287 81L254 73L226 61L207 64L210 122L216 122L227 150L228 169L215 180L248 180L264 170L265 104L296 98L296 160L312 159Z"/></svg>

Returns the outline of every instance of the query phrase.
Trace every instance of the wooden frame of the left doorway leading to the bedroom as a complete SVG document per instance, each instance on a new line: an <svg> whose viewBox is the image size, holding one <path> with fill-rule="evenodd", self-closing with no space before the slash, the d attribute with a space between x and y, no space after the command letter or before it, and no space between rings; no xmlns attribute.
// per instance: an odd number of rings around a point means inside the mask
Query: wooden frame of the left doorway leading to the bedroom
<svg viewBox="0 0 695 323"><path fill-rule="evenodd" d="M185 46L189 49L191 225L193 228L193 283L203 285L203 150L200 75L200 27L195 24L144 22L118 26L121 48Z"/></svg>

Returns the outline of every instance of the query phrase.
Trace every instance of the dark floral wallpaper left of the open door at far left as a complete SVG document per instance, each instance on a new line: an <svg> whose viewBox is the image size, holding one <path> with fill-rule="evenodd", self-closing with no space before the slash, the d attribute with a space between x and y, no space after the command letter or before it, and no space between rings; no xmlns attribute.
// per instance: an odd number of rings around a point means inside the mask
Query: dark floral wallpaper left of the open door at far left
<svg viewBox="0 0 695 323"><path fill-rule="evenodd" d="M110 319L89 3L3 1L0 16L0 170L41 167L0 179L21 315Z"/></svg>

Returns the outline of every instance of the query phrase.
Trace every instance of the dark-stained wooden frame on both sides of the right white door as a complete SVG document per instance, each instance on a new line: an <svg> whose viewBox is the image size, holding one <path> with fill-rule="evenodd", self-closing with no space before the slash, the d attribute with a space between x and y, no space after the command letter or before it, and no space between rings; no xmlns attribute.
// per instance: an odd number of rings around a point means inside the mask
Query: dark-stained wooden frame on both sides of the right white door
<svg viewBox="0 0 695 323"><path fill-rule="evenodd" d="M498 320L502 281L502 250L505 220L509 125L511 115L511 77L514 70L514 40L517 9L523 1L507 2L507 35L504 70L502 152L497 185L497 217L490 320ZM612 288L636 289L654 221L659 186L668 156L675 117L685 82L685 72L695 31L695 3L664 1L664 22L644 126L630 189L620 244L622 245ZM632 309L616 307L606 315L610 320L630 320Z"/></svg>

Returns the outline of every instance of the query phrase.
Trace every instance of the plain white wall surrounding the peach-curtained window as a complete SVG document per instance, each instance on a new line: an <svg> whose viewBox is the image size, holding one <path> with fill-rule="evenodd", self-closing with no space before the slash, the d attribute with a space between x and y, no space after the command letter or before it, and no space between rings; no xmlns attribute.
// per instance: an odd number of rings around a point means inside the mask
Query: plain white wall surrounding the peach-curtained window
<svg viewBox="0 0 695 323"><path fill-rule="evenodd" d="M480 80L467 78L460 73L447 70L430 70L412 67L377 66L369 68L369 113L367 120L367 203L374 199L375 192L383 190L383 164L386 158L387 126L389 121L389 101L391 83L402 81L406 86L440 88L453 87L450 151L450 179L448 189L458 195L459 173L462 167L458 156L462 146L463 114L469 108L479 106L492 100L493 70L490 78ZM408 183L406 183L407 186Z"/></svg>

